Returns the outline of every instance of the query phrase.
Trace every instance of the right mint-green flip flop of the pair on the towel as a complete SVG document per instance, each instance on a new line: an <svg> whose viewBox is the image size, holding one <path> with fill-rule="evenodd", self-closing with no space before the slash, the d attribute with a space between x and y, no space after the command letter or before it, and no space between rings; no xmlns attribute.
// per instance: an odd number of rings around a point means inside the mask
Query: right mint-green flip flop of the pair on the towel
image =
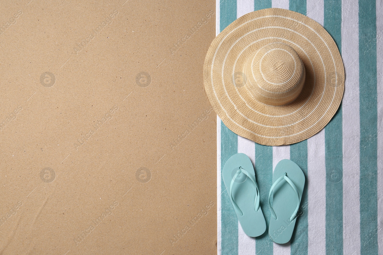
<svg viewBox="0 0 383 255"><path fill-rule="evenodd" d="M303 187L304 174L300 167L288 159L279 161L275 166L273 185L268 194L268 205L271 211L268 235L273 242L285 244L290 241ZM273 199L273 205L270 198Z"/></svg>

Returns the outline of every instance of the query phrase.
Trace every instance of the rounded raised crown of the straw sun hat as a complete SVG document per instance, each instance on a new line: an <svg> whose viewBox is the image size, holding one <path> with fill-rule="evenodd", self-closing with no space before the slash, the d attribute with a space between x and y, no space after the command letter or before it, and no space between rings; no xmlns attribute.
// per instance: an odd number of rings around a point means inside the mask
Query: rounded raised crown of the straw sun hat
<svg viewBox="0 0 383 255"><path fill-rule="evenodd" d="M273 42L247 58L246 86L259 102L281 106L294 101L302 91L305 70L296 51L287 44Z"/></svg>

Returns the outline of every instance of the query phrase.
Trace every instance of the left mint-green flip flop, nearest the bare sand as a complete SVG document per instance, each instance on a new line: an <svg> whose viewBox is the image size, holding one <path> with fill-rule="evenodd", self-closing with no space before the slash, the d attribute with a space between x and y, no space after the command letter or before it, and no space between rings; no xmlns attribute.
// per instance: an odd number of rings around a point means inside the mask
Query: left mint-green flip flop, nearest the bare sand
<svg viewBox="0 0 383 255"><path fill-rule="evenodd" d="M259 207L259 189L249 157L244 153L231 156L223 166L222 178L245 234L262 235L266 221Z"/></svg>

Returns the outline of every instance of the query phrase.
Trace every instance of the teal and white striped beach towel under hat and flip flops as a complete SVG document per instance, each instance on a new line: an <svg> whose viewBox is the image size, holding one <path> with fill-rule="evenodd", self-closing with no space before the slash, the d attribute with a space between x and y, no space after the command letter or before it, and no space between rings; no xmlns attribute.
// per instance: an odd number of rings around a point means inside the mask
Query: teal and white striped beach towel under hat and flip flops
<svg viewBox="0 0 383 255"><path fill-rule="evenodd" d="M383 0L218 0L217 34L236 18L270 7L307 15L331 34L344 62L344 97L321 132L293 145L259 145L217 119L218 254L383 254ZM267 225L277 162L291 159L306 175L288 244L273 243L267 232L256 238L243 232L221 177L235 153L254 163Z"/></svg>

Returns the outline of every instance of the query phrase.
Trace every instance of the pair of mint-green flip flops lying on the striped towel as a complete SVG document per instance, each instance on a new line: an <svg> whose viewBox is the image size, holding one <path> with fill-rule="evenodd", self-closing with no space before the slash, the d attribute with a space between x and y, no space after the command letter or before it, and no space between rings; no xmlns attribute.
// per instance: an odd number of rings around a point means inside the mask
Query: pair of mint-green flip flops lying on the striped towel
<svg viewBox="0 0 383 255"><path fill-rule="evenodd" d="M251 237L262 235L266 231L266 221L260 208L259 188L249 157L244 153L231 156L223 167L222 177L245 234ZM302 170L293 161L283 159L275 166L273 185L268 195L271 211L268 234L277 244L285 244L291 239L304 181Z"/></svg>

